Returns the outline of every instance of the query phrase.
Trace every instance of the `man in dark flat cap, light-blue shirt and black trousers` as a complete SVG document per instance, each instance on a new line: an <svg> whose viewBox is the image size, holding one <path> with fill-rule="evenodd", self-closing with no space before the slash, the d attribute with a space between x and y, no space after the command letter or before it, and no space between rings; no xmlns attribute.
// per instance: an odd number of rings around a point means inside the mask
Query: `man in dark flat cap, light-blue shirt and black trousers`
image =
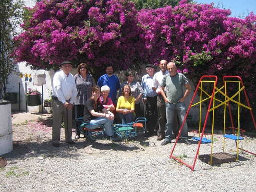
<svg viewBox="0 0 256 192"><path fill-rule="evenodd" d="M156 67L152 64L146 65L147 74L142 77L141 87L144 90L143 102L146 103L147 131L145 137L154 135L158 131L158 94L152 89L154 71Z"/></svg>

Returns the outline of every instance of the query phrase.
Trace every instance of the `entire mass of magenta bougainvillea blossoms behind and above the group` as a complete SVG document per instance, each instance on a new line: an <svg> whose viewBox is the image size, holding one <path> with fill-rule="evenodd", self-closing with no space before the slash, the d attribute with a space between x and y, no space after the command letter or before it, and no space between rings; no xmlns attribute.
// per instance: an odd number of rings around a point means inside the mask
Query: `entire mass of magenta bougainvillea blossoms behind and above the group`
<svg viewBox="0 0 256 192"><path fill-rule="evenodd" d="M241 76L256 98L256 16L230 14L187 0L139 12L130 0L43 0L27 8L13 56L35 69L86 62L96 78L106 64L119 70L173 60L192 79Z"/></svg>

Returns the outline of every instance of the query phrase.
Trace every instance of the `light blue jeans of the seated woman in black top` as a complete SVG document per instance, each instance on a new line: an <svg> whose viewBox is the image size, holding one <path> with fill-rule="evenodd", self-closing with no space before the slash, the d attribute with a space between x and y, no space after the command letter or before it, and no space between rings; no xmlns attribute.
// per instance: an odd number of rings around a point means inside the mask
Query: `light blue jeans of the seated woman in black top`
<svg viewBox="0 0 256 192"><path fill-rule="evenodd" d="M89 122L90 124L104 124L104 129L105 129L105 133L108 136L112 136L113 135L113 120L109 120L106 117L98 117L96 119L90 120ZM85 126L87 129L97 129L99 126L98 125L86 125Z"/></svg>

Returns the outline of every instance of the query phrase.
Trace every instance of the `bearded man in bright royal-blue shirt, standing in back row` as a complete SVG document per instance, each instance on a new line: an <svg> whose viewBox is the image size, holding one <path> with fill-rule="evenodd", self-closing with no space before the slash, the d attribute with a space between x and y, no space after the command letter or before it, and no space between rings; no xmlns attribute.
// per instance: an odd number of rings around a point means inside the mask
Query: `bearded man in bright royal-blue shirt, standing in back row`
<svg viewBox="0 0 256 192"><path fill-rule="evenodd" d="M102 75L98 79L97 85L99 87L102 87L103 85L108 85L110 87L110 94L109 97L112 99L113 104L116 108L116 95L117 91L120 89L120 81L116 75L113 74L113 67L111 65L108 65L106 68L106 74ZM115 111L113 111L115 114Z"/></svg>

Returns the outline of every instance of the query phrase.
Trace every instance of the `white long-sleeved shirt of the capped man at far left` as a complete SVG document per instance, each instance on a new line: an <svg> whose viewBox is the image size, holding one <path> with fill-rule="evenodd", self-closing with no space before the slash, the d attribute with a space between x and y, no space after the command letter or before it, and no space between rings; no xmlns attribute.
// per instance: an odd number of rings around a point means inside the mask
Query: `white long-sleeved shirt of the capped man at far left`
<svg viewBox="0 0 256 192"><path fill-rule="evenodd" d="M52 95L57 96L59 101L65 103L69 100L73 104L77 95L74 77L71 73L56 72L52 80Z"/></svg>

